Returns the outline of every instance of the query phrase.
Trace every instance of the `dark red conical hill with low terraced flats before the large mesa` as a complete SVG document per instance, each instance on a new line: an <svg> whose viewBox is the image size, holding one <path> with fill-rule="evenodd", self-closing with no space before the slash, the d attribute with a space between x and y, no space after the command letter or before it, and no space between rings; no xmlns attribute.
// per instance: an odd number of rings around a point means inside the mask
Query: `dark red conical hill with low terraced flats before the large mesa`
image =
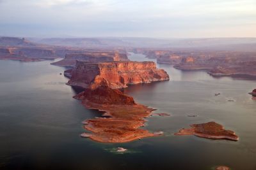
<svg viewBox="0 0 256 170"><path fill-rule="evenodd" d="M86 89L75 98L80 99L86 108L105 111L104 115L110 117L86 120L84 128L92 134L82 134L83 137L104 143L124 143L156 136L144 129L138 129L153 110L136 104L132 97L118 89L102 85L96 89Z"/></svg>

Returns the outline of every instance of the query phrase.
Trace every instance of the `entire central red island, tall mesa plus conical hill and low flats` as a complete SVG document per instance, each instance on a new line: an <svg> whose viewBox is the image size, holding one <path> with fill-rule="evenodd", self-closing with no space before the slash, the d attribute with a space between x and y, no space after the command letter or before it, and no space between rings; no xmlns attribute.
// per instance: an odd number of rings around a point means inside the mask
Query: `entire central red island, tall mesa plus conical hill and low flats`
<svg viewBox="0 0 256 170"><path fill-rule="evenodd" d="M154 62L77 62L69 74L69 85L85 87L84 92L74 98L80 99L86 108L104 111L108 116L84 121L84 128L92 134L81 136L103 143L125 143L159 136L139 129L154 109L135 103L132 97L119 90L129 83L169 80L168 74L156 69Z"/></svg>

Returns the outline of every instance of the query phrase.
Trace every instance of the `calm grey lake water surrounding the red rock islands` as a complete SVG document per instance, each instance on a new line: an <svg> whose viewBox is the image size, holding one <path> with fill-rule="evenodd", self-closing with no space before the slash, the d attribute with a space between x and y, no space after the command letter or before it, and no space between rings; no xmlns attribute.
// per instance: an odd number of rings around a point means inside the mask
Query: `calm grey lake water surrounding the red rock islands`
<svg viewBox="0 0 256 170"><path fill-rule="evenodd" d="M133 53L129 58L148 60ZM73 99L79 89L65 85L68 79L60 75L65 68L50 62L0 60L0 169L256 169L256 101L248 94L256 81L157 64L170 81L132 85L124 92L156 108L155 113L172 115L147 118L145 129L164 131L164 136L106 144L79 137L81 122L100 112ZM198 117L188 117L192 114ZM240 140L173 135L209 121L235 131ZM129 151L118 154L118 146Z"/></svg>

